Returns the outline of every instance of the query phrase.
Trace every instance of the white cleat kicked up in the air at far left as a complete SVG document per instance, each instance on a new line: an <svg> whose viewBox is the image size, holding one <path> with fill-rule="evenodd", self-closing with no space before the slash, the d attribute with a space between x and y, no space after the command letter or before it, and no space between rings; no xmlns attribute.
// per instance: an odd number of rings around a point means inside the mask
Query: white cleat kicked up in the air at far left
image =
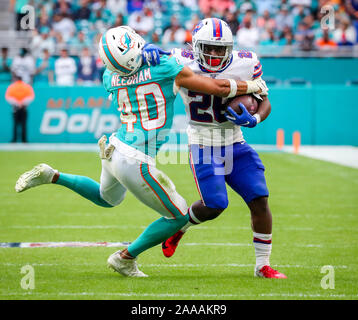
<svg viewBox="0 0 358 320"><path fill-rule="evenodd" d="M49 165L41 163L19 177L15 184L15 190L22 192L41 184L51 183L56 172Z"/></svg>

